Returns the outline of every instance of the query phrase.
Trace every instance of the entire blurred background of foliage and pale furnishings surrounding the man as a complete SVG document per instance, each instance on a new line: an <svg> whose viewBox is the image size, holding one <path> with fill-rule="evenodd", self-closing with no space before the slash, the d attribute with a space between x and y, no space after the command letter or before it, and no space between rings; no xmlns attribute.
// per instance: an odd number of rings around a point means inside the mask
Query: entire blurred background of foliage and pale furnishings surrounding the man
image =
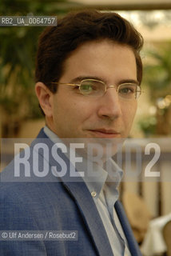
<svg viewBox="0 0 171 256"><path fill-rule="evenodd" d="M1 0L0 15L53 15L59 18L70 10L85 8L116 11L132 22L144 37L145 46L141 51L144 64L141 87L144 92L139 99L137 117L130 138L141 138L139 142L142 152L143 142L157 140L162 154L153 170L159 170L161 174L166 171L169 174L170 0ZM38 36L42 30L42 26L0 27L0 138L34 138L44 126L44 118L34 94L35 54ZM148 162L145 158L144 166ZM121 198L144 255L164 255L168 250L162 230L166 218L167 222L171 219L170 182L171 174L168 182L121 183ZM157 222L156 227L153 219L159 219L160 225ZM157 240L153 238L155 229L158 232ZM171 237L170 233L169 235Z"/></svg>

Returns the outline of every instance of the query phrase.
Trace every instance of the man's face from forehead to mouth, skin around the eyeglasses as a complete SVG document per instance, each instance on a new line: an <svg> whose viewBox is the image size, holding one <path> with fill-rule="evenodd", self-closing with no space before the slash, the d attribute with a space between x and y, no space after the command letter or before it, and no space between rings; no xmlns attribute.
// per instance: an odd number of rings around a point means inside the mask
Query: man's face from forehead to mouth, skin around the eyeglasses
<svg viewBox="0 0 171 256"><path fill-rule="evenodd" d="M137 82L136 61L128 46L109 40L86 42L66 59L59 82L76 82L77 78L95 78L107 85ZM118 98L114 88L101 97L79 93L74 86L58 85L50 96L47 125L59 138L126 138L129 135L137 101Z"/></svg>

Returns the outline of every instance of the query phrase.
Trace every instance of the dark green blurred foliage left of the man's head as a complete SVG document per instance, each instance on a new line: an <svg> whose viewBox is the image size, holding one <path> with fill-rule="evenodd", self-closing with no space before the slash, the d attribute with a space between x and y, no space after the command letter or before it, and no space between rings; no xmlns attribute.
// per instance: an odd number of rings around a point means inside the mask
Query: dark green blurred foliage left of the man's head
<svg viewBox="0 0 171 256"><path fill-rule="evenodd" d="M0 15L66 14L66 1L1 0ZM38 35L45 27L0 27L0 106L8 118L42 117L34 94Z"/></svg>

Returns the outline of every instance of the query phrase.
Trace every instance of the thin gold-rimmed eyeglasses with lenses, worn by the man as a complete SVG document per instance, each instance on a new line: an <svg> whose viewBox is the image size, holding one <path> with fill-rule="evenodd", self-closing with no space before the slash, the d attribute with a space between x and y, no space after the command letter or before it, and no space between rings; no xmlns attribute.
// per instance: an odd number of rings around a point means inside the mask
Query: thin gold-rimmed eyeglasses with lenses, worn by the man
<svg viewBox="0 0 171 256"><path fill-rule="evenodd" d="M79 84L76 83L62 83L52 82L54 84L62 84L66 86L75 86L79 92L85 96L101 97L105 94L109 88L115 88L119 98L124 100L133 100L139 98L141 95L141 87L137 83L125 82L119 86L110 85L107 86L105 82L96 79L84 79Z"/></svg>

